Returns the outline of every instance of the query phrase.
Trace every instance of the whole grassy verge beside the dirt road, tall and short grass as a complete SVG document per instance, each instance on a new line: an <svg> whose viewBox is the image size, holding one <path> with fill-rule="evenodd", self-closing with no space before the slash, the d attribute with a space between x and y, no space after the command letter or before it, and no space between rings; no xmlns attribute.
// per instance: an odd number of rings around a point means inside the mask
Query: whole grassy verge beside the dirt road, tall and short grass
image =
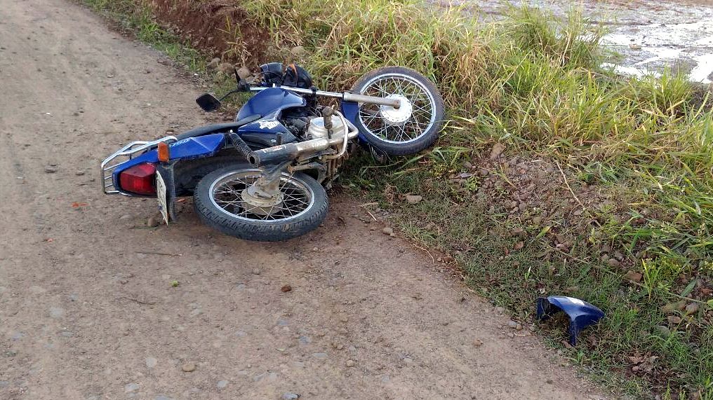
<svg viewBox="0 0 713 400"><path fill-rule="evenodd" d="M144 6L85 2L123 15L139 38L192 68L205 63ZM389 166L357 158L344 179L390 209L406 236L453 256L468 285L554 346L564 325L535 324L535 298L567 293L599 305L605 320L564 349L597 379L642 396L713 399L705 90L670 72L637 80L602 70L603 32L576 11L562 21L511 9L478 23L472 10L411 0L235 5L270 32L265 47L285 49L277 58L304 46L302 63L322 87L349 88L381 65L438 83L451 123L437 147ZM493 162L496 143L506 157ZM408 193L424 200L399 201ZM640 281L625 279L629 270Z"/></svg>

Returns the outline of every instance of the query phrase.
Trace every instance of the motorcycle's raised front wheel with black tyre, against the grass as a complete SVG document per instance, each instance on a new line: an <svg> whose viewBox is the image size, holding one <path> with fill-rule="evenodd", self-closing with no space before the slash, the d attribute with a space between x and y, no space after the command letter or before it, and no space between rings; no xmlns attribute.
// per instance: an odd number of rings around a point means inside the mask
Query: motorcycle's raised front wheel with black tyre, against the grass
<svg viewBox="0 0 713 400"><path fill-rule="evenodd" d="M395 98L401 107L359 104L356 127L367 142L392 156L420 152L434 144L443 127L443 99L424 75L403 67L371 71L354 93Z"/></svg>

